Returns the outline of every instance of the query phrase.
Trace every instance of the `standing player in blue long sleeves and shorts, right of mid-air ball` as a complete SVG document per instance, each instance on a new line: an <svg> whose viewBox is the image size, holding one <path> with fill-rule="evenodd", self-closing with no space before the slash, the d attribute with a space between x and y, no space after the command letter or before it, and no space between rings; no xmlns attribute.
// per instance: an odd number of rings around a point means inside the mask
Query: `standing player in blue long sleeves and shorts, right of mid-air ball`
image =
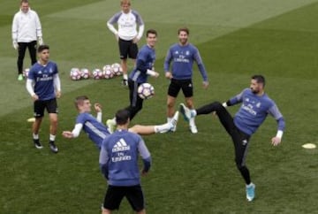
<svg viewBox="0 0 318 214"><path fill-rule="evenodd" d="M188 42L189 29L178 29L178 43L173 44L168 50L164 60L165 77L170 80L167 96L167 119L168 121L174 114L174 106L178 92L182 92L186 99L186 106L193 109L193 62L199 67L203 78L203 88L208 88L208 76L203 65L199 50ZM172 62L172 63L171 63ZM170 69L170 63L171 69ZM189 121L190 131L198 133L194 118Z"/></svg>

